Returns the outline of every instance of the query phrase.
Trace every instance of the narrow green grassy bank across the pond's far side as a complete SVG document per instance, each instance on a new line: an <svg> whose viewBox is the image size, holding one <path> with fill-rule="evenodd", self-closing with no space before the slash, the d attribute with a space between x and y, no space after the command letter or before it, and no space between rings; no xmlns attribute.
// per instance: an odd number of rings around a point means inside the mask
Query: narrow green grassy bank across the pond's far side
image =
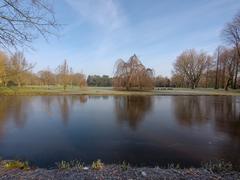
<svg viewBox="0 0 240 180"><path fill-rule="evenodd" d="M240 96L240 90L224 91L210 88L155 88L149 91L123 91L111 87L68 87L65 91L60 86L0 87L0 95L229 95Z"/></svg>

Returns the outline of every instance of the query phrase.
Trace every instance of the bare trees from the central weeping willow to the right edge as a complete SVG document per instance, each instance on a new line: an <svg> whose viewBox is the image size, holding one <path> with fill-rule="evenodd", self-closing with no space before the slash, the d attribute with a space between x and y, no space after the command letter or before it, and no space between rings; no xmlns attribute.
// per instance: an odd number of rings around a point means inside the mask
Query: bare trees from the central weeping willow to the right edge
<svg viewBox="0 0 240 180"><path fill-rule="evenodd" d="M127 62L116 62L113 86L116 88L196 87L240 88L240 12L225 25L220 45L213 55L204 51L187 49L173 64L172 77L154 77L153 70L145 68L136 55Z"/></svg>

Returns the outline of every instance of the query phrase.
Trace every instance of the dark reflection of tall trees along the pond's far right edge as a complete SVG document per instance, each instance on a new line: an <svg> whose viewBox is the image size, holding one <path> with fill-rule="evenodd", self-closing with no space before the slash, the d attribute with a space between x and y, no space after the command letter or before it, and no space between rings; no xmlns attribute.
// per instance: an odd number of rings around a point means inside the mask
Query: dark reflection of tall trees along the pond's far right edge
<svg viewBox="0 0 240 180"><path fill-rule="evenodd" d="M239 97L223 97L215 103L215 127L230 138L221 148L221 157L234 165L240 164L240 99Z"/></svg>

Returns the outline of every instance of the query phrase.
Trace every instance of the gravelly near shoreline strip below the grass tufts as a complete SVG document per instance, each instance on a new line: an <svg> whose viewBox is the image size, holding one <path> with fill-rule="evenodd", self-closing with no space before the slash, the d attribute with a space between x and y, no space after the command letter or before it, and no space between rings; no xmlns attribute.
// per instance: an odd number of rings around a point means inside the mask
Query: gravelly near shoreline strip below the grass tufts
<svg viewBox="0 0 240 180"><path fill-rule="evenodd" d="M104 165L95 170L91 167L80 169L72 167L68 169L44 169L33 168L21 170L18 168L6 169L0 162L0 179L239 179L238 171L213 172L205 168L177 167L127 167L112 164Z"/></svg>

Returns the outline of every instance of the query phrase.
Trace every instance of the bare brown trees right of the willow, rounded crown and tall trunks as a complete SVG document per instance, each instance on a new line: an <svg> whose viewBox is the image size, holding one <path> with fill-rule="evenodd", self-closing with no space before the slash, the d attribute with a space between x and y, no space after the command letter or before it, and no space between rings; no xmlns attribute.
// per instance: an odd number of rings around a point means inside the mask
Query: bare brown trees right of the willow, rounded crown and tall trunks
<svg viewBox="0 0 240 180"><path fill-rule="evenodd" d="M227 46L218 46L213 55L194 49L181 53L173 65L171 84L191 88L239 88L240 12L225 25L221 37Z"/></svg>

